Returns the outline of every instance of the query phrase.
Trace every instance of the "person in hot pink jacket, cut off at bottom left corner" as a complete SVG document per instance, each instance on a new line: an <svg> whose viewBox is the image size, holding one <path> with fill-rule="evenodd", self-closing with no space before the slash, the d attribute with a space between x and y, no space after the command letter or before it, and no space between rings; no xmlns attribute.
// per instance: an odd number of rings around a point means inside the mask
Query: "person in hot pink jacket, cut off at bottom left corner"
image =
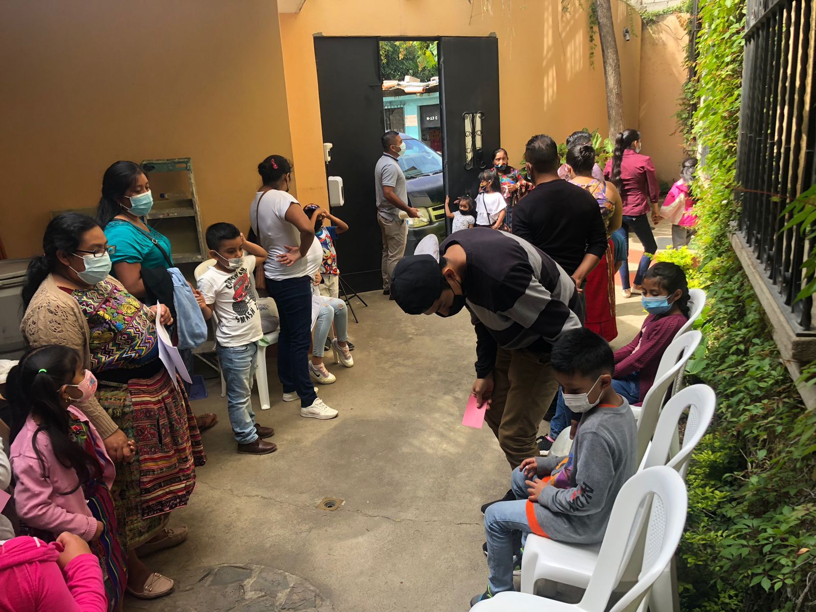
<svg viewBox="0 0 816 612"><path fill-rule="evenodd" d="M105 612L99 561L67 531L55 542L24 535L0 543L0 612Z"/></svg>

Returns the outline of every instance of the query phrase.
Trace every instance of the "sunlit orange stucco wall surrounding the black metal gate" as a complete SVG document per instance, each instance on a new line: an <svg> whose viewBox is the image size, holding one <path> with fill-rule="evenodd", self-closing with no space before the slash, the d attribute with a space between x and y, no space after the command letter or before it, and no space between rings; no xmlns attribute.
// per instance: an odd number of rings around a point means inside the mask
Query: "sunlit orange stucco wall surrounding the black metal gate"
<svg viewBox="0 0 816 612"><path fill-rule="evenodd" d="M512 163L521 159L530 135L563 140L582 127L608 131L601 48L589 63L588 15L573 2L557 0L467 2L466 0L307 0L296 15L282 15L281 35L289 100L292 151L301 202L326 203L320 105L313 34L324 36L499 38L499 103L502 146ZM483 11L483 7L486 9ZM623 79L624 113L639 119L641 19L612 0ZM632 31L623 40L623 28ZM478 86L474 70L473 86ZM379 143L371 146L378 147Z"/></svg>

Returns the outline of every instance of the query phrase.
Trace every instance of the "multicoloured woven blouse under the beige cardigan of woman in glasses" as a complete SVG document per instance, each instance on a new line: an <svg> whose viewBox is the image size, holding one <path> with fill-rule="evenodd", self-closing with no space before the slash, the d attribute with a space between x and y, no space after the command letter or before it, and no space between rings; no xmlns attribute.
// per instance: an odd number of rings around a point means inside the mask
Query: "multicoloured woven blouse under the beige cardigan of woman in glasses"
<svg viewBox="0 0 816 612"><path fill-rule="evenodd" d="M91 370L132 369L158 358L157 332L148 308L104 280L71 291L91 330Z"/></svg>

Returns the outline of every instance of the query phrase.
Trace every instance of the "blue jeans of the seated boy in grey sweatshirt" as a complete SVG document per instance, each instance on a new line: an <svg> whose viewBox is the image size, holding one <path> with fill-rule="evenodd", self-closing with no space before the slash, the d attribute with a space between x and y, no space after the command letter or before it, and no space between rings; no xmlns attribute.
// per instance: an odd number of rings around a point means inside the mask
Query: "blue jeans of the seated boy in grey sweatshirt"
<svg viewBox="0 0 816 612"><path fill-rule="evenodd" d="M512 591L512 557L519 554L527 539L527 477L518 468L512 471L512 492L516 501L498 502L485 511L487 567L490 592ZM538 477L533 478L539 480Z"/></svg>

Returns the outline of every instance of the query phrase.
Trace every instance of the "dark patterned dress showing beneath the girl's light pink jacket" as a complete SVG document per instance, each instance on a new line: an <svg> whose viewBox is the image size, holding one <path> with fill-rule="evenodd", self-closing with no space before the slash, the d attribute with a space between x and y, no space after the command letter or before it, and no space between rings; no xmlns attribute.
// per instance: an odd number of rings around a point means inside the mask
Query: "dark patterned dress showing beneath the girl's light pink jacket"
<svg viewBox="0 0 816 612"><path fill-rule="evenodd" d="M100 459L91 437L91 429L88 424L74 415L71 415L69 437L88 455ZM127 556L124 534L118 530L113 498L104 481L92 480L86 486L83 486L82 490L88 502L88 509L91 510L93 517L103 525L100 538L89 542L88 546L91 547L91 552L100 560L105 595L108 596L108 610L113 610L118 602L122 600L127 584Z"/></svg>

